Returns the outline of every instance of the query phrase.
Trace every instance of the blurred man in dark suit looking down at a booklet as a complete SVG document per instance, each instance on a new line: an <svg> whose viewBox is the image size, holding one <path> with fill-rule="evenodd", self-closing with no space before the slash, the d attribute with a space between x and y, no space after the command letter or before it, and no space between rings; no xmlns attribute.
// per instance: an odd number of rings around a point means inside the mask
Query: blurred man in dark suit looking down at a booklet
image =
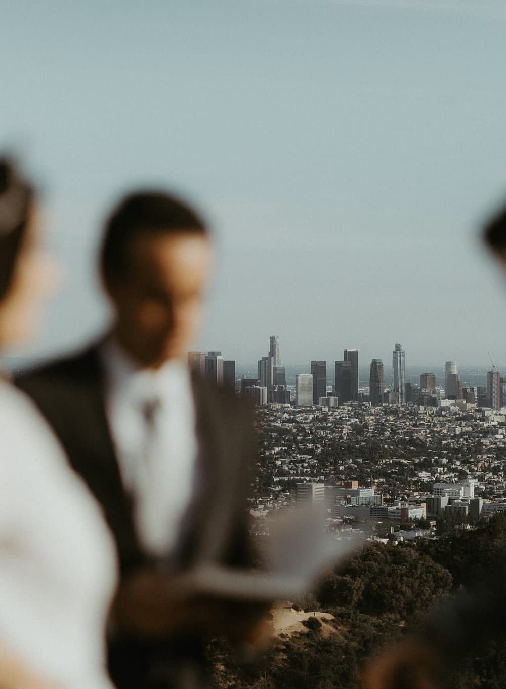
<svg viewBox="0 0 506 689"><path fill-rule="evenodd" d="M110 331L17 381L116 538L122 584L109 669L119 689L203 686L207 635L252 641L261 617L209 596L182 601L171 585L196 564L251 562L249 408L185 362L212 259L189 205L164 192L130 194L107 220L101 251Z"/></svg>

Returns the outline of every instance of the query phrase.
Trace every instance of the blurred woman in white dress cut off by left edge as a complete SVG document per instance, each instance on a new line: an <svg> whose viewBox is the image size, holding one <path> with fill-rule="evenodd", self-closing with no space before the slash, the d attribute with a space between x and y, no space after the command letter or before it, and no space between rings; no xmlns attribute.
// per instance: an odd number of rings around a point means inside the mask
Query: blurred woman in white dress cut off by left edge
<svg viewBox="0 0 506 689"><path fill-rule="evenodd" d="M0 347L34 327L52 282L34 189L0 159ZM98 506L35 407L0 378L0 689L107 689L116 578Z"/></svg>

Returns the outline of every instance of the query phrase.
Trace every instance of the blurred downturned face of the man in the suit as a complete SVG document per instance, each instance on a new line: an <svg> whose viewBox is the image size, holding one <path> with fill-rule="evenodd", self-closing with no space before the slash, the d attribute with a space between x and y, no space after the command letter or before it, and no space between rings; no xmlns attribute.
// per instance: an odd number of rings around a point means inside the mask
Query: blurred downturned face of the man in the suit
<svg viewBox="0 0 506 689"><path fill-rule="evenodd" d="M149 367L185 356L200 325L212 250L203 236L140 236L127 276L109 285L116 333L127 353Z"/></svg>

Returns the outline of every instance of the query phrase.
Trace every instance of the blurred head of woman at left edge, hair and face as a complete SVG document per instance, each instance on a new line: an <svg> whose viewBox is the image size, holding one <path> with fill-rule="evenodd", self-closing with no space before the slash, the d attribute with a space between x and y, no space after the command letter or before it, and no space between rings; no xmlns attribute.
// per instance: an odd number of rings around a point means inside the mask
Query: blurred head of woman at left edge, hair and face
<svg viewBox="0 0 506 689"><path fill-rule="evenodd" d="M32 185L0 158L0 345L31 335L52 282L51 265L37 248L37 222Z"/></svg>

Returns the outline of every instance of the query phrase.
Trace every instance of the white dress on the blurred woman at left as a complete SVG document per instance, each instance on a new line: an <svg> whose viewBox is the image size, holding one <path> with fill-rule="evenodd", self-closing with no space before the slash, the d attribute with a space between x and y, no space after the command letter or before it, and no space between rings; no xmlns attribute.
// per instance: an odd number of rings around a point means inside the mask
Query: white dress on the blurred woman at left
<svg viewBox="0 0 506 689"><path fill-rule="evenodd" d="M63 689L111 689L101 509L32 402L0 382L0 647Z"/></svg>

